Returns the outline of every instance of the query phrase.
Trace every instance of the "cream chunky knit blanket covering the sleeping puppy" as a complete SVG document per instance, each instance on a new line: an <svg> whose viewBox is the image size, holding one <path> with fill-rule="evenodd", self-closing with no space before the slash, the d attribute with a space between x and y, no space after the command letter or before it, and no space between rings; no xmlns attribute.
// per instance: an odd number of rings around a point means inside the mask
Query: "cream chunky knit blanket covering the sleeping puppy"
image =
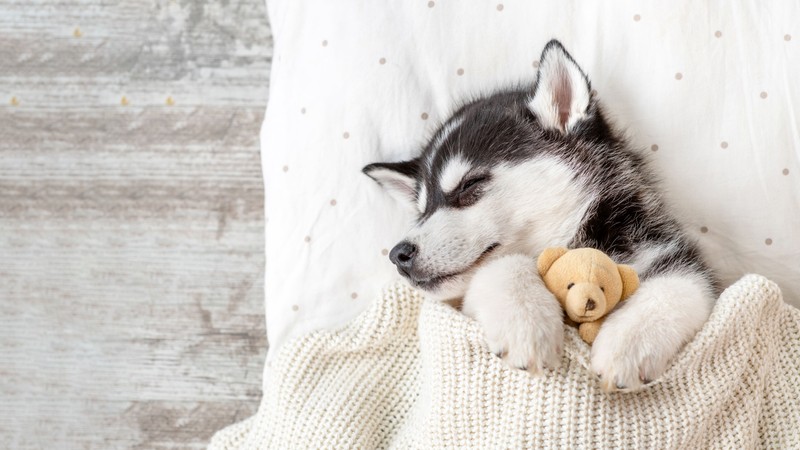
<svg viewBox="0 0 800 450"><path fill-rule="evenodd" d="M258 413L211 449L800 449L800 310L748 275L661 379L606 394L567 327L561 367L506 367L480 327L401 285L350 325L288 343Z"/></svg>

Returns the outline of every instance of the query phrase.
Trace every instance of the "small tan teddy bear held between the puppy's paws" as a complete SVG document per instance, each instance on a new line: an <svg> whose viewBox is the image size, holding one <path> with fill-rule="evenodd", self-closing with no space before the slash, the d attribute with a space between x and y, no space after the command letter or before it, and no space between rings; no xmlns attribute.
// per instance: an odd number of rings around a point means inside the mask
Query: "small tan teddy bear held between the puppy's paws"
<svg viewBox="0 0 800 450"><path fill-rule="evenodd" d="M600 250L563 247L545 249L537 267L545 286L561 303L578 334L591 344L603 319L618 302L639 287L631 266L616 264Z"/></svg>

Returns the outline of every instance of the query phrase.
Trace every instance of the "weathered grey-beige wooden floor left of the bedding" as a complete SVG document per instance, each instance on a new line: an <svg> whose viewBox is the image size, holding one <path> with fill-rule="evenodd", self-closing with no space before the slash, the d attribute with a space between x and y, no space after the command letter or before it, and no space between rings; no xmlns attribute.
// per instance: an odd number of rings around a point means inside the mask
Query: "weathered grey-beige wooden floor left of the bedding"
<svg viewBox="0 0 800 450"><path fill-rule="evenodd" d="M0 448L204 448L266 352L263 0L0 0Z"/></svg>

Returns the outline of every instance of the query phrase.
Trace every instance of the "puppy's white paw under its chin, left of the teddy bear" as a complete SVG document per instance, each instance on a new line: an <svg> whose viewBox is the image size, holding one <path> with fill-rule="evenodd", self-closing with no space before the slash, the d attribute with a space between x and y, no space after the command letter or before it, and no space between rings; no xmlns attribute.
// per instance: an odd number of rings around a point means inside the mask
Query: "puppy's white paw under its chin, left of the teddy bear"
<svg viewBox="0 0 800 450"><path fill-rule="evenodd" d="M540 373L560 364L561 307L533 258L510 255L488 262L470 283L464 313L481 324L489 349L512 367Z"/></svg>

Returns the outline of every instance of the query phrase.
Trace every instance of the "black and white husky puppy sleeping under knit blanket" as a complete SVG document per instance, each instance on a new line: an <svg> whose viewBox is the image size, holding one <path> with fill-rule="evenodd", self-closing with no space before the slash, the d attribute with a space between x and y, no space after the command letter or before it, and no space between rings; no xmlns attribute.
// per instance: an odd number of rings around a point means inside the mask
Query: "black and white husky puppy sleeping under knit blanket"
<svg viewBox="0 0 800 450"><path fill-rule="evenodd" d="M711 312L715 282L697 245L558 41L531 88L464 105L419 157L364 173L416 210L389 255L400 274L433 297L463 297L491 351L514 367L561 361L562 312L536 270L546 247L594 247L639 273L592 346L606 390L658 378Z"/></svg>

